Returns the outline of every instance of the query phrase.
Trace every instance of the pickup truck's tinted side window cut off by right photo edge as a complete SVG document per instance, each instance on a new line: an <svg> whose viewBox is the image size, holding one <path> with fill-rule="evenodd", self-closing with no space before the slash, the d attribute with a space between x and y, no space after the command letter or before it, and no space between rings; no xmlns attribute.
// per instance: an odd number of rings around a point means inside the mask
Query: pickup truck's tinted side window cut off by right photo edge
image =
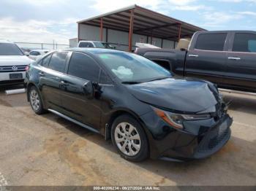
<svg viewBox="0 0 256 191"><path fill-rule="evenodd" d="M256 34L236 34L233 52L256 52Z"/></svg>

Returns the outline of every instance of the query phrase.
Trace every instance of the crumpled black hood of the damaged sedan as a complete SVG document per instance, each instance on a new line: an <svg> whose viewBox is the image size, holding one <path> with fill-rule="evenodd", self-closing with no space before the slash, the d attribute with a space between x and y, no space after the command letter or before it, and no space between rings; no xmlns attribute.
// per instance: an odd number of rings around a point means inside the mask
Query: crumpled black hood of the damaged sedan
<svg viewBox="0 0 256 191"><path fill-rule="evenodd" d="M168 78L127 87L138 100L175 112L203 112L219 100L217 88L199 79Z"/></svg>

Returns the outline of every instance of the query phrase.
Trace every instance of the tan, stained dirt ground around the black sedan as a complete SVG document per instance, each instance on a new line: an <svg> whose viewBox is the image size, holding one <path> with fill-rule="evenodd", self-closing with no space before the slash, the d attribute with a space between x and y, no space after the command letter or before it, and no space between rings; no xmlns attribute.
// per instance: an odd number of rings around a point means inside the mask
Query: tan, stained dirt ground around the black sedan
<svg viewBox="0 0 256 191"><path fill-rule="evenodd" d="M0 90L1 185L256 185L256 98L232 100L232 137L206 160L122 159L104 137L55 114L37 116L26 95Z"/></svg>

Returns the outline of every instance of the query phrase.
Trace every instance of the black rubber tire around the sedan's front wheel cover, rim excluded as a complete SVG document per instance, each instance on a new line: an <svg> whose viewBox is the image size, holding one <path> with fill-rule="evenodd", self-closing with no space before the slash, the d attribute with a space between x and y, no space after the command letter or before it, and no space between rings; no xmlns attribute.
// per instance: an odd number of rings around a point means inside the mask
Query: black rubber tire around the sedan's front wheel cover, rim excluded
<svg viewBox="0 0 256 191"><path fill-rule="evenodd" d="M118 145L115 140L115 130L116 128L118 128L118 125L120 125L122 122L129 123L129 125L132 125L133 128L136 129L134 133L136 133L136 135L138 133L138 135L140 136L140 149L136 155L133 155L133 156L125 155L123 152L121 152L121 149L118 148ZM116 120L114 120L113 125L111 126L111 139L116 149L118 150L119 154L121 155L121 157L124 157L124 159L132 162L140 162L148 158L149 149L148 149L148 139L146 137L146 133L144 132L140 123L129 114L121 115L117 117Z"/></svg>

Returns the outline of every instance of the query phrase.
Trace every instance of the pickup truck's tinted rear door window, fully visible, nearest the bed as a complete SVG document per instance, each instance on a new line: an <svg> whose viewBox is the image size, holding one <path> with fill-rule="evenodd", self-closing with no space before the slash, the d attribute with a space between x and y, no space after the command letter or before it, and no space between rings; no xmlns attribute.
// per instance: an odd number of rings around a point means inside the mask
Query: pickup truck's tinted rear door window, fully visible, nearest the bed
<svg viewBox="0 0 256 191"><path fill-rule="evenodd" d="M223 51L227 33L199 34L195 49Z"/></svg>

